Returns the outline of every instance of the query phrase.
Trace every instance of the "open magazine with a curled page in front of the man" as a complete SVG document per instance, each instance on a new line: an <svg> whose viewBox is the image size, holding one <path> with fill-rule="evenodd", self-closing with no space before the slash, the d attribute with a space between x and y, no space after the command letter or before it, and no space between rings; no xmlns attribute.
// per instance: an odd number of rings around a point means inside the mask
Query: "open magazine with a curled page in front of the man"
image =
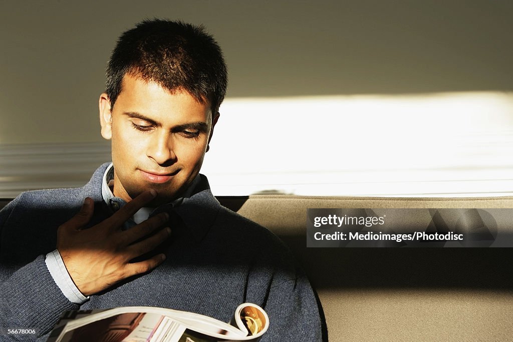
<svg viewBox="0 0 513 342"><path fill-rule="evenodd" d="M258 305L237 307L230 324L197 313L152 307L70 311L47 342L258 341L269 317Z"/></svg>

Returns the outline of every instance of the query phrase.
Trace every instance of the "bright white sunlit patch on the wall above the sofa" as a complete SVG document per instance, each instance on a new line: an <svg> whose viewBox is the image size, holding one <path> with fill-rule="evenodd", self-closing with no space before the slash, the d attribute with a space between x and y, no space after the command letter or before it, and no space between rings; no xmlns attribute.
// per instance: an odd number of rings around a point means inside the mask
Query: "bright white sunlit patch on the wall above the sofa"
<svg viewBox="0 0 513 342"><path fill-rule="evenodd" d="M513 93L228 98L215 195L513 194Z"/></svg>

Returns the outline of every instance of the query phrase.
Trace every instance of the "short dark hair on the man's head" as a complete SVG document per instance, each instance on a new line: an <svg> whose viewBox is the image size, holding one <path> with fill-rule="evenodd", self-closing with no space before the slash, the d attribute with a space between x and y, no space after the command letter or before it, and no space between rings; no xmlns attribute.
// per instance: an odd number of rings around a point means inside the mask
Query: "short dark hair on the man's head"
<svg viewBox="0 0 513 342"><path fill-rule="evenodd" d="M106 72L111 108L121 93L123 77L131 74L162 88L189 92L218 111L226 94L223 53L203 26L163 19L145 20L117 41Z"/></svg>

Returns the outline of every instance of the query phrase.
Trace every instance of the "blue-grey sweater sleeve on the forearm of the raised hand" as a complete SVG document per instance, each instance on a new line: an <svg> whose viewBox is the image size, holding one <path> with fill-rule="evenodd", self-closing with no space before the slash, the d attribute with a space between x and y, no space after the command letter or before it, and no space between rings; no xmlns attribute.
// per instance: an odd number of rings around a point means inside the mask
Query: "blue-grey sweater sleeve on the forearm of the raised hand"
<svg viewBox="0 0 513 342"><path fill-rule="evenodd" d="M0 248L9 243L3 240L3 230L18 198L0 211ZM27 340L29 337L7 335L7 329L35 329L36 336L41 336L53 328L64 311L78 307L55 284L44 255L21 268L0 261L0 333L4 334L0 340Z"/></svg>

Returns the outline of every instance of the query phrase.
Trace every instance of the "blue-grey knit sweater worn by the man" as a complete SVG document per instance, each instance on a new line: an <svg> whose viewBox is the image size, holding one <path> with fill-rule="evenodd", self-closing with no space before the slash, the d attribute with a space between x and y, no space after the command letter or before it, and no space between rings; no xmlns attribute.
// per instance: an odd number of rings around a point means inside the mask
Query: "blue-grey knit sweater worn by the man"
<svg viewBox="0 0 513 342"><path fill-rule="evenodd" d="M108 164L82 188L22 193L0 212L0 329L36 329L45 340L66 310L154 306L229 321L246 301L263 307L270 327L262 341L318 341L321 323L313 291L283 243L267 229L222 207L205 176L196 192L168 211L173 233L160 250L165 262L144 275L92 295L78 306L55 285L44 255L55 249L56 229L93 198L89 226L112 214L102 199ZM1 330L0 330L1 331ZM35 336L0 336L0 340Z"/></svg>

